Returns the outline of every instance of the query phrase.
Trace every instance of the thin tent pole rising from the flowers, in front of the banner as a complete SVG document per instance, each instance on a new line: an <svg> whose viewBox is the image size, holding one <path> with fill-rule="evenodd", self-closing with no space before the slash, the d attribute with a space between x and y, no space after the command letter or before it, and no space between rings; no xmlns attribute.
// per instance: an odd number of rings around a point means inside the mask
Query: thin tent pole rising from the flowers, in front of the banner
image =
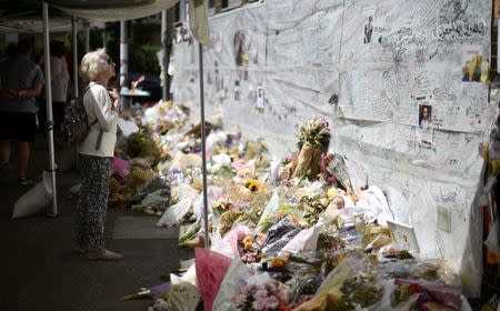
<svg viewBox="0 0 500 311"><path fill-rule="evenodd" d="M200 58L200 113L201 113L201 170L203 174L203 220L204 220L204 248L210 247L208 223L208 195L207 195L207 151L204 129L204 90L203 90L203 46L198 43Z"/></svg>

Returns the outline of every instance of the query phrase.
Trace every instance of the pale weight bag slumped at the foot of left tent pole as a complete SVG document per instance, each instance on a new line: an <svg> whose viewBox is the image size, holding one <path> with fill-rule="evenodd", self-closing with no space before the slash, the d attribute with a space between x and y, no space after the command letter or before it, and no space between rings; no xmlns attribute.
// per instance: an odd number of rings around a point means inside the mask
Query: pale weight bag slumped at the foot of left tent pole
<svg viewBox="0 0 500 311"><path fill-rule="evenodd" d="M52 200L52 182L49 172L42 173L42 181L21 195L12 211L12 219L29 217L40 212Z"/></svg>

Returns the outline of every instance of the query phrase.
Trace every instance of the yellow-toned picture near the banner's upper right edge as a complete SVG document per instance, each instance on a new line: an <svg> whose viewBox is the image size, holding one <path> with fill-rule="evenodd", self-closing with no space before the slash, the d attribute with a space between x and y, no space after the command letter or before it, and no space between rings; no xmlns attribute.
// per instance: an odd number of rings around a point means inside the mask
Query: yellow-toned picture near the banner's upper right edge
<svg viewBox="0 0 500 311"><path fill-rule="evenodd" d="M462 82L488 81L490 61L482 50L482 46L462 48Z"/></svg>

